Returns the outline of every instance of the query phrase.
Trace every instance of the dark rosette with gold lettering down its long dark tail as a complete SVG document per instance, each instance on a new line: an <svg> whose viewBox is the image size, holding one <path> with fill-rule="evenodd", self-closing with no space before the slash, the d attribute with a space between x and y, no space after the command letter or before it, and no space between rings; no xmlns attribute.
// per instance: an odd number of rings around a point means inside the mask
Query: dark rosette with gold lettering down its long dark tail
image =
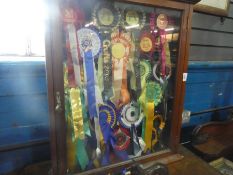
<svg viewBox="0 0 233 175"><path fill-rule="evenodd" d="M99 29L102 39L102 63L98 67L103 78L102 98L106 102L114 96L112 88L112 52L111 31L118 27L121 13L111 2L103 1L96 3L92 19L94 25ZM101 60L100 59L100 60ZM99 70L100 68L100 70Z"/></svg>

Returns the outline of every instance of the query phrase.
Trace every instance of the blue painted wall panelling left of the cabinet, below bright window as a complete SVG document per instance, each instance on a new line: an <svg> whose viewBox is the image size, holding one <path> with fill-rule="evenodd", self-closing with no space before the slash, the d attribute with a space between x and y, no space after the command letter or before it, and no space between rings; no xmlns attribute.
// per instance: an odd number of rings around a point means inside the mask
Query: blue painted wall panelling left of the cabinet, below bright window
<svg viewBox="0 0 233 175"><path fill-rule="evenodd" d="M0 148L47 141L45 62L0 62ZM0 153L0 174L50 158L49 145Z"/></svg>

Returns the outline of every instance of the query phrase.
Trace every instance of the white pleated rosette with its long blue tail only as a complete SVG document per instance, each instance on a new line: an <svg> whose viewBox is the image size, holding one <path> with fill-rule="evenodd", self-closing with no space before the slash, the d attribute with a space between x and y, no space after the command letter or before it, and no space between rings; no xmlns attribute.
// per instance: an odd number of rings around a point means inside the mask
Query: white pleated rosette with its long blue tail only
<svg viewBox="0 0 233 175"><path fill-rule="evenodd" d="M96 89L95 89L95 67L94 58L97 58L101 41L98 34L89 28L82 28L77 31L81 56L84 58L87 102L90 118L97 117L96 110Z"/></svg>

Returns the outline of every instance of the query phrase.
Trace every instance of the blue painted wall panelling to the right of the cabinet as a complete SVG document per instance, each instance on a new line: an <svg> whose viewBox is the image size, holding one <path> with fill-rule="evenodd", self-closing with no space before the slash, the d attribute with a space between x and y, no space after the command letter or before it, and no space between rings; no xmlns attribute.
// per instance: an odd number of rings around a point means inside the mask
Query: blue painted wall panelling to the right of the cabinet
<svg viewBox="0 0 233 175"><path fill-rule="evenodd" d="M184 109L192 113L233 105L233 62L193 61L189 63ZM191 116L182 126L182 141L191 139L192 129L212 120L213 112ZM228 117L218 112L219 119Z"/></svg>

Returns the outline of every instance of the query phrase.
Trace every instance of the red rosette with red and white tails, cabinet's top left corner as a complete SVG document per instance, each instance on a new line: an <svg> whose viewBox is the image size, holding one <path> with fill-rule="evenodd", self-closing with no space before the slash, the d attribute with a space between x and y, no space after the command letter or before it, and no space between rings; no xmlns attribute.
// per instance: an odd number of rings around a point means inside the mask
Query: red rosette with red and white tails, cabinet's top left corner
<svg viewBox="0 0 233 175"><path fill-rule="evenodd" d="M63 22L66 34L66 52L69 87L79 87L83 85L83 69L81 64L81 55L78 47L76 27L84 21L83 12L78 8L63 9ZM83 94L81 92L81 94ZM82 100L82 104L85 104ZM83 105L82 105L83 107ZM85 114L85 113L83 113ZM86 115L84 115L86 116ZM84 130L86 135L90 135L89 123L84 119Z"/></svg>

